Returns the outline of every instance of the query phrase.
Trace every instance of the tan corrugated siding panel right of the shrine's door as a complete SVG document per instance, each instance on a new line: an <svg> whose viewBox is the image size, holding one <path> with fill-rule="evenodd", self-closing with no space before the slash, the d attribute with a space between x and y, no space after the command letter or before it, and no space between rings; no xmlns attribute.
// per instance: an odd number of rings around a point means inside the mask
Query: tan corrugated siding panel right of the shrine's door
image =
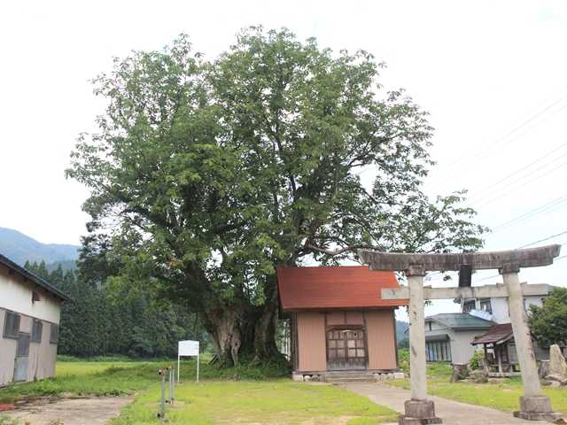
<svg viewBox="0 0 567 425"><path fill-rule="evenodd" d="M394 342L393 310L366 312L370 369L395 369L396 346Z"/></svg>

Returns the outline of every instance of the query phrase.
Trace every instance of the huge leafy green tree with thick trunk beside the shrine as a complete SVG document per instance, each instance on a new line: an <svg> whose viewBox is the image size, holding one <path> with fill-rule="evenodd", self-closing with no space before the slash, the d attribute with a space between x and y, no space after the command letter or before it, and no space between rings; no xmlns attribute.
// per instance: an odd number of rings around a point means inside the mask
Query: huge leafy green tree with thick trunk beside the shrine
<svg viewBox="0 0 567 425"><path fill-rule="evenodd" d="M481 246L460 194L420 190L431 127L380 67L253 27L214 61L185 36L117 59L68 170L91 192L92 264L104 252L115 279L189 303L232 363L277 353L278 265Z"/></svg>

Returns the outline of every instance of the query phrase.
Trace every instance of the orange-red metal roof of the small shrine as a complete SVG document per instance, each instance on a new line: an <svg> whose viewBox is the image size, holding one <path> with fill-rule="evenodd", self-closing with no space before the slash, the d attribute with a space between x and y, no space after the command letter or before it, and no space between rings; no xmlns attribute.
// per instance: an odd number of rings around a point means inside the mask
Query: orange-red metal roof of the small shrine
<svg viewBox="0 0 567 425"><path fill-rule="evenodd" d="M284 312L408 305L407 299L382 299L382 289L400 286L392 271L367 266L277 267L277 284Z"/></svg>

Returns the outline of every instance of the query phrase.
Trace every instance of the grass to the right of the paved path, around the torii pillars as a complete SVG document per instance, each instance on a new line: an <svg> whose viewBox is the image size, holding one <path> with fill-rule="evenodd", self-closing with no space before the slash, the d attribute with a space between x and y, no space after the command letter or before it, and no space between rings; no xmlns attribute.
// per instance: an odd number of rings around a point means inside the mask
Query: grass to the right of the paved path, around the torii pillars
<svg viewBox="0 0 567 425"><path fill-rule="evenodd" d="M519 398L524 395L521 378L504 379L501 383L450 383L453 369L445 363L427 366L427 390L431 395L462 401L470 405L492 407L498 410L519 409ZM409 390L408 379L385 381L389 385ZM551 398L551 406L557 412L567 413L567 389L542 387L544 395Z"/></svg>

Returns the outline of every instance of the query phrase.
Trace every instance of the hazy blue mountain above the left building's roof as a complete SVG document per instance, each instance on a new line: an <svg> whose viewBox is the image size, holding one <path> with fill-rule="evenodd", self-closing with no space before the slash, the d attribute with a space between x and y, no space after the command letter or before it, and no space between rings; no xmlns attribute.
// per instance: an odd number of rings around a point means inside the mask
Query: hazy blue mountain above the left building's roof
<svg viewBox="0 0 567 425"><path fill-rule="evenodd" d="M0 254L23 266L26 261L45 261L48 268L61 263L73 268L79 257L79 246L60 243L41 243L12 228L0 228ZM54 268L57 268L55 264Z"/></svg>

